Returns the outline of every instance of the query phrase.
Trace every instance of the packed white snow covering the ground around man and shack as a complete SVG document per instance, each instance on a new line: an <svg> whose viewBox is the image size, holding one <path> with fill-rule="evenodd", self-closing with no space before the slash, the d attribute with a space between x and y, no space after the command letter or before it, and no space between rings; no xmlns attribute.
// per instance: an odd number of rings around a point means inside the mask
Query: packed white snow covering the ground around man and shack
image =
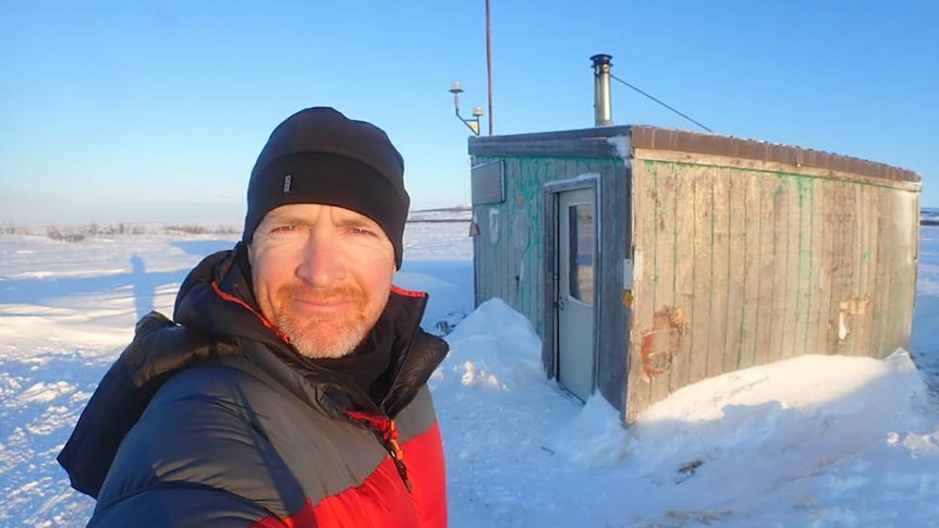
<svg viewBox="0 0 939 528"><path fill-rule="evenodd" d="M397 280L430 292L425 328L455 326L430 381L451 526L939 526L939 228L922 232L911 354L733 372L630 429L545 378L522 316L473 310L466 232L408 224ZM0 526L86 523L94 502L56 455L138 315L171 312L186 271L233 240L0 235Z"/></svg>

